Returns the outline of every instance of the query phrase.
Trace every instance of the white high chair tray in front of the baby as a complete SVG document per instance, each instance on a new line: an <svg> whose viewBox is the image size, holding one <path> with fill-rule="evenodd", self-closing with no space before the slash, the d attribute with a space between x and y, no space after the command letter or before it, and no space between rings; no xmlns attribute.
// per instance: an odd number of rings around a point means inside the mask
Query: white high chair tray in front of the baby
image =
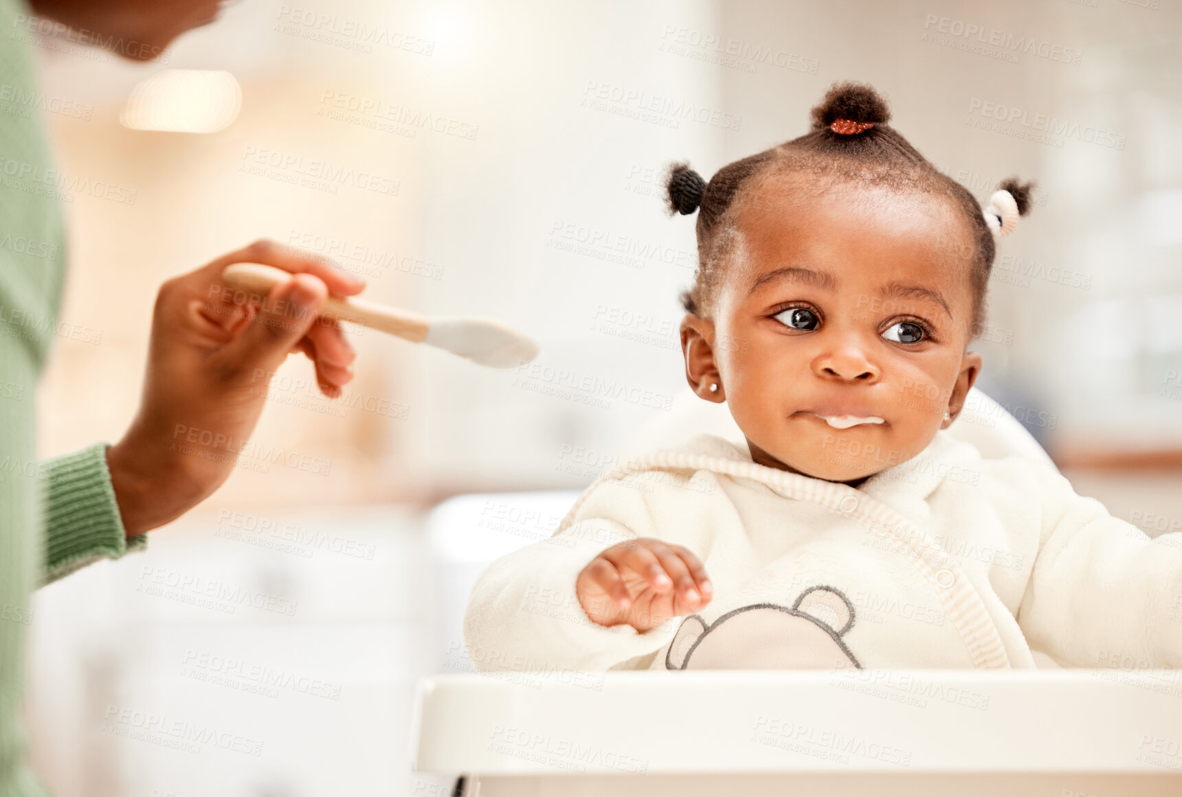
<svg viewBox="0 0 1182 797"><path fill-rule="evenodd" d="M1182 795L1182 671L435 675L411 739L421 772L1141 773Z"/></svg>

